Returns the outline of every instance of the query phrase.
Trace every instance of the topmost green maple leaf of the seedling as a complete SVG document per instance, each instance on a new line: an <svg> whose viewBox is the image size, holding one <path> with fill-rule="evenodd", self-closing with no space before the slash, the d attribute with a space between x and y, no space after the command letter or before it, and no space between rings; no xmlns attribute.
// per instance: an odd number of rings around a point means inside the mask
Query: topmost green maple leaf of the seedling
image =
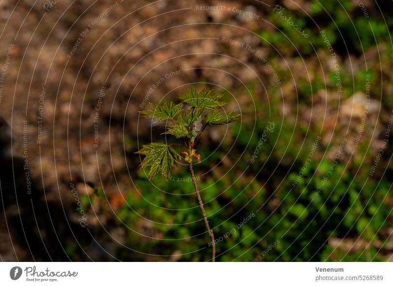
<svg viewBox="0 0 393 286"><path fill-rule="evenodd" d="M186 94L180 95L179 99L184 101L185 104L199 109L213 109L225 105L224 102L220 101L222 97L222 94L212 94L209 89L203 89L199 93L195 89L191 89Z"/></svg>

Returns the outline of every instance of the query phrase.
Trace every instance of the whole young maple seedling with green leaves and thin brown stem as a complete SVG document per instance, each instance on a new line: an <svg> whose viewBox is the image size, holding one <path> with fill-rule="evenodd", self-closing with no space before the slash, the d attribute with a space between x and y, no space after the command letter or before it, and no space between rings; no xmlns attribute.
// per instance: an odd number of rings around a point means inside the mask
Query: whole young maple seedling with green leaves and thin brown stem
<svg viewBox="0 0 393 286"><path fill-rule="evenodd" d="M152 180L158 174L161 174L168 180L170 170L177 168L177 163L182 159L189 164L199 208L202 211L207 232L212 239L213 262L216 260L214 234L210 229L209 221L207 220L203 202L199 194L193 169L193 160L196 158L198 163L201 162L202 158L197 153L195 147L200 135L207 126L228 124L242 117L242 114L222 110L222 106L225 105L221 101L222 97L222 94L213 94L208 89L203 89L199 93L191 89L186 94L179 96L181 101L179 104L174 104L173 102L162 105L151 103L151 111L143 110L140 111L140 114L145 117L155 118L154 123L166 121L166 132L163 134L173 135L178 140L183 141L181 142L183 144L172 143L167 145L153 142L142 145L142 149L136 152L145 156L141 162L139 171L150 167L148 174L149 180ZM186 110L186 106L189 106L188 110ZM183 146L184 148L182 152L178 153L172 146Z"/></svg>

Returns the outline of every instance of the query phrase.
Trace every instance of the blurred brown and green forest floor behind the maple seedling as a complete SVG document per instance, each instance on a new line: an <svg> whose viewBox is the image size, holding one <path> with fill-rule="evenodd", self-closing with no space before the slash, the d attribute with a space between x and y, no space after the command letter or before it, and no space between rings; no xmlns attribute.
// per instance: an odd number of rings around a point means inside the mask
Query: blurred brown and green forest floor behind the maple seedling
<svg viewBox="0 0 393 286"><path fill-rule="evenodd" d="M188 169L134 154L163 140L139 111L191 87L247 115L198 146L218 261L393 260L392 11L1 1L1 260L209 260Z"/></svg>

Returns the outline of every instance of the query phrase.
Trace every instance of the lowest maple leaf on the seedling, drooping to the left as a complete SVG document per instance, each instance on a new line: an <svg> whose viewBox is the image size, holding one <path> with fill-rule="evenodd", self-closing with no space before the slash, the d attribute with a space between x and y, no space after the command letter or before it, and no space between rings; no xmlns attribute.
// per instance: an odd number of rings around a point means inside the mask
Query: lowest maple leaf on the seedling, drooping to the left
<svg viewBox="0 0 393 286"><path fill-rule="evenodd" d="M159 173L168 180L170 169L177 168L176 163L181 159L181 156L167 144L155 142L142 145L142 149L136 154L145 156L140 164L140 170L150 167L149 180L153 180Z"/></svg>

